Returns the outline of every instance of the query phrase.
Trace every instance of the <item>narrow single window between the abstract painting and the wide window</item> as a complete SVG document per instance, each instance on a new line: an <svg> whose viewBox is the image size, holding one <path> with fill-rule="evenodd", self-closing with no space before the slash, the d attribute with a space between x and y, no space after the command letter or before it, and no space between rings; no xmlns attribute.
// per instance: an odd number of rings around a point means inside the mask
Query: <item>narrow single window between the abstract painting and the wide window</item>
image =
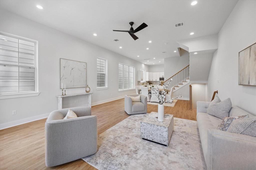
<svg viewBox="0 0 256 170"><path fill-rule="evenodd" d="M97 88L107 87L107 60L97 58Z"/></svg>

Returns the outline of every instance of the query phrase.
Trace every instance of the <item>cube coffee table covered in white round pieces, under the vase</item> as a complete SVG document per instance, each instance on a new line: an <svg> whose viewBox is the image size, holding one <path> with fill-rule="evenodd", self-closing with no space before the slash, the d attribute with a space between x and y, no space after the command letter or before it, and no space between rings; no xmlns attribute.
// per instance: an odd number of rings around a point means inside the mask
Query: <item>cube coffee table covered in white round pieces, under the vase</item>
<svg viewBox="0 0 256 170"><path fill-rule="evenodd" d="M151 112L149 115L157 112ZM158 144L168 146L173 133L173 115L159 122L150 116L141 121L141 138Z"/></svg>

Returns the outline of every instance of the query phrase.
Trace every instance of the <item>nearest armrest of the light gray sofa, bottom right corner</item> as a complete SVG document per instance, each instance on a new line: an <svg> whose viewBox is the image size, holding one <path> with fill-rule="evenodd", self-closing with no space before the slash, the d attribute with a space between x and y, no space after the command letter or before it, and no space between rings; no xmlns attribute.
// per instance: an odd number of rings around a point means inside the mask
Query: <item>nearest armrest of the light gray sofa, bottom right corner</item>
<svg viewBox="0 0 256 170"><path fill-rule="evenodd" d="M255 169L256 138L218 129L207 131L207 169Z"/></svg>

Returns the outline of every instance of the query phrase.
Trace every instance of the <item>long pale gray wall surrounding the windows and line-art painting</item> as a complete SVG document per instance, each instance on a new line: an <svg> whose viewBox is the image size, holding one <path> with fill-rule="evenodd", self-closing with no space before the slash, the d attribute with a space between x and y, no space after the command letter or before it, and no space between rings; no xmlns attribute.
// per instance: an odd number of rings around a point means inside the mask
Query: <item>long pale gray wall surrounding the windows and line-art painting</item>
<svg viewBox="0 0 256 170"><path fill-rule="evenodd" d="M148 71L147 65L2 9L0 22L1 31L38 41L39 92L41 92L39 96L0 100L1 125L57 110L56 95L61 94L60 58L87 63L87 84L93 92L92 104L135 93L135 90L118 91L119 62L135 66L135 72L141 68ZM97 57L108 59L109 88L107 90L96 90ZM137 80L137 74L135 76ZM84 91L85 88L67 89L67 94ZM80 101L78 105L84 105L82 96L78 99ZM13 110L17 110L17 115L12 115Z"/></svg>

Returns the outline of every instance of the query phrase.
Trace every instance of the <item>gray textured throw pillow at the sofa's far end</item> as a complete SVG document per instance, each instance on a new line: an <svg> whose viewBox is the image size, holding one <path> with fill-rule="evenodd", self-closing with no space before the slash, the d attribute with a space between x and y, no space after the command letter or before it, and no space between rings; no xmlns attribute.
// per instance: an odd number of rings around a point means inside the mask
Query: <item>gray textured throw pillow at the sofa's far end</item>
<svg viewBox="0 0 256 170"><path fill-rule="evenodd" d="M230 98L221 101L220 98L217 96L209 104L207 114L223 119L225 117L228 117L231 107L232 103Z"/></svg>

